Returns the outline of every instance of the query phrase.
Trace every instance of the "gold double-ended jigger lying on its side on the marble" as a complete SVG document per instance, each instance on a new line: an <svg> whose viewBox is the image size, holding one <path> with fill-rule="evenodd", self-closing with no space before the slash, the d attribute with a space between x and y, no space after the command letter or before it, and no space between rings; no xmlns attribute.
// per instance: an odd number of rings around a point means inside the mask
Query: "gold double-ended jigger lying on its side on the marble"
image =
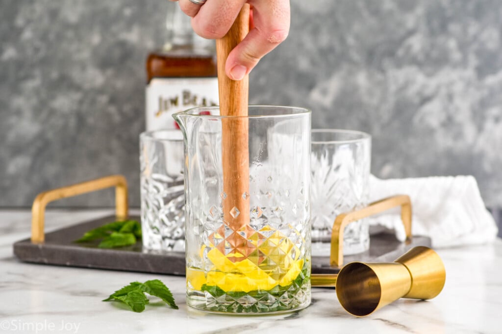
<svg viewBox="0 0 502 334"><path fill-rule="evenodd" d="M338 273L336 295L347 312L365 316L402 297L434 298L445 280L439 255L418 246L391 263L348 263Z"/></svg>

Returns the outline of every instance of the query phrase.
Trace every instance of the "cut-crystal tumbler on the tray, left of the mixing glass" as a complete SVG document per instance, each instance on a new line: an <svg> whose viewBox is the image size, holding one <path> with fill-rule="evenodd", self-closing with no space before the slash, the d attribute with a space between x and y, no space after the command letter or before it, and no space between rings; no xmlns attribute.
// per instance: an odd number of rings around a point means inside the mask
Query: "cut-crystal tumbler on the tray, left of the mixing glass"
<svg viewBox="0 0 502 334"><path fill-rule="evenodd" d="M140 135L143 247L185 249L183 134L158 130Z"/></svg>

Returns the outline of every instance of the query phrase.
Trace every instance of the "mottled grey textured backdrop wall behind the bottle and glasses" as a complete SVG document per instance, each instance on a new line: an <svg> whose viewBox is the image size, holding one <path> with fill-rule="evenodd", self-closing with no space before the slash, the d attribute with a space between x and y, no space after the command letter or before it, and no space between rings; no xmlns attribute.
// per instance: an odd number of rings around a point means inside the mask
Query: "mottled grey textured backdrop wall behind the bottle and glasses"
<svg viewBox="0 0 502 334"><path fill-rule="evenodd" d="M139 205L144 61L166 8L0 0L0 206L110 173ZM501 17L498 0L293 0L290 36L253 72L250 101L371 133L377 176L472 174L502 206Z"/></svg>

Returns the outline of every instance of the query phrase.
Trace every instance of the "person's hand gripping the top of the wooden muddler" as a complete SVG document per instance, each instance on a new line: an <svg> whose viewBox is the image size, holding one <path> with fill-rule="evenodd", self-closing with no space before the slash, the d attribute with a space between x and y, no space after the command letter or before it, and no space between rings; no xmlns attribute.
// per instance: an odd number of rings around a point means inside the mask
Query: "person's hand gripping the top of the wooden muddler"
<svg viewBox="0 0 502 334"><path fill-rule="evenodd" d="M263 56L288 37L289 0L207 0L205 3L179 0L179 3L181 10L192 17L195 33L207 39L225 36L242 6L251 5L249 34L230 52L225 64L226 75L233 80L241 80Z"/></svg>

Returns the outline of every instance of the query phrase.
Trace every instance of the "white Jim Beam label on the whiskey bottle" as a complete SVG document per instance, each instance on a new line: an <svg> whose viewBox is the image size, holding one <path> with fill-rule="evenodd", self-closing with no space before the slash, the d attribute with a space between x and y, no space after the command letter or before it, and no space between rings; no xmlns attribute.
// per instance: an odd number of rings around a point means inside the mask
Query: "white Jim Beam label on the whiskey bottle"
<svg viewBox="0 0 502 334"><path fill-rule="evenodd" d="M176 129L174 113L217 105L217 78L154 78L146 89L147 131Z"/></svg>

